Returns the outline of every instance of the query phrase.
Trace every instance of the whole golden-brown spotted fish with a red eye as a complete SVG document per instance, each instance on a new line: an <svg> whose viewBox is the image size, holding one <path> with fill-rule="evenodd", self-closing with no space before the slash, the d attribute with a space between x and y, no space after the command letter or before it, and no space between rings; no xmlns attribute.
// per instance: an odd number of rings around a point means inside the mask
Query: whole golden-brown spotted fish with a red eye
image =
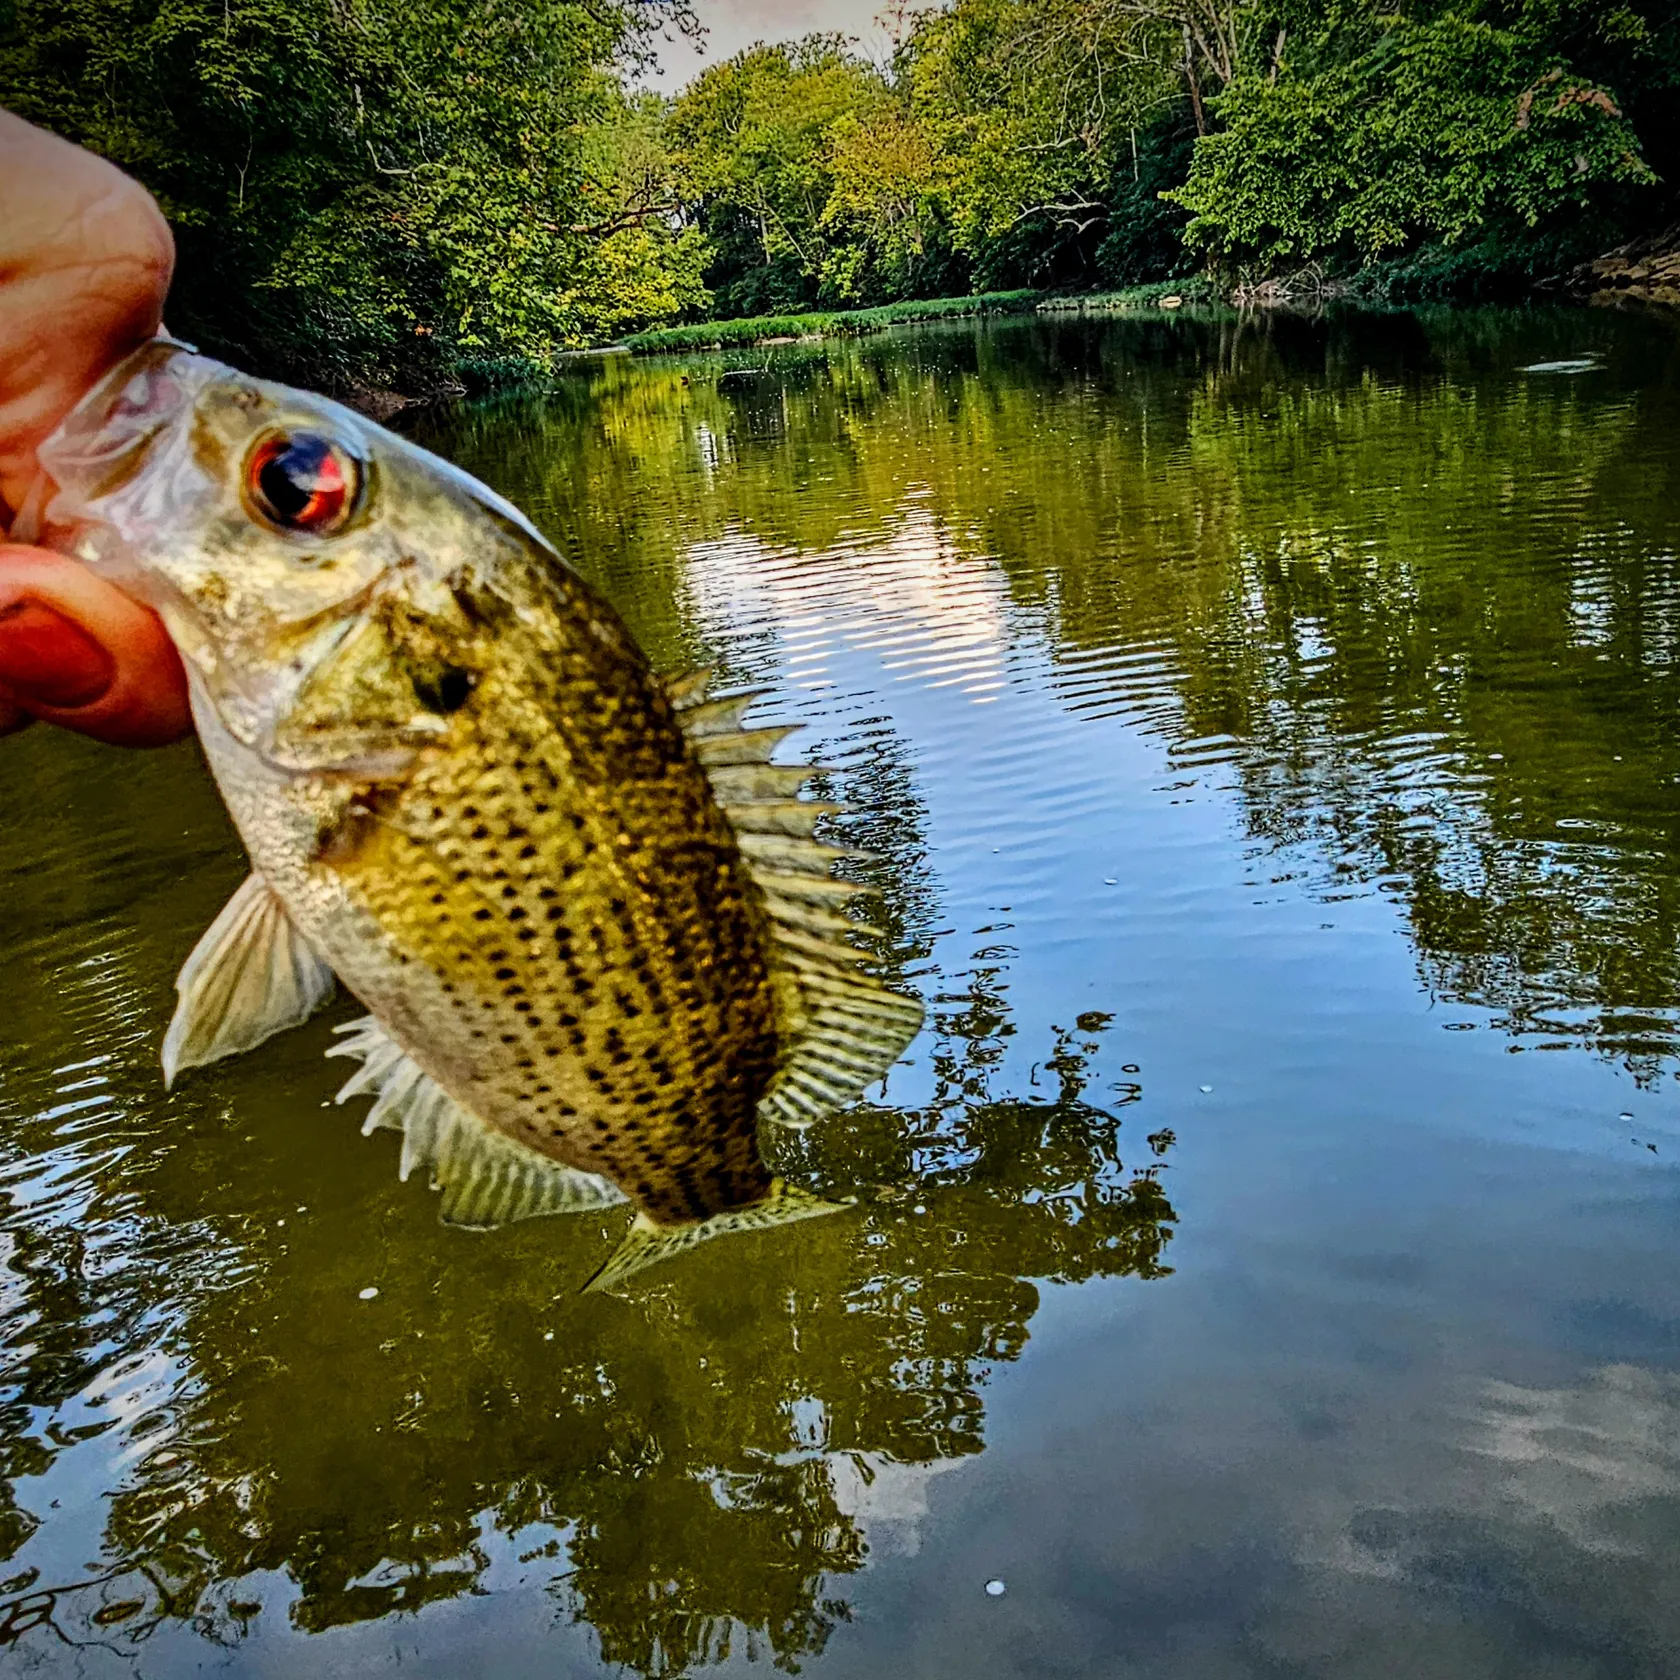
<svg viewBox="0 0 1680 1680"><path fill-rule="evenodd" d="M165 1080L368 1015L365 1132L449 1223L628 1201L612 1289L835 1203L774 1176L922 1023L791 732L662 680L501 496L349 408L155 339L42 445L54 543L161 617L252 872L186 958Z"/></svg>

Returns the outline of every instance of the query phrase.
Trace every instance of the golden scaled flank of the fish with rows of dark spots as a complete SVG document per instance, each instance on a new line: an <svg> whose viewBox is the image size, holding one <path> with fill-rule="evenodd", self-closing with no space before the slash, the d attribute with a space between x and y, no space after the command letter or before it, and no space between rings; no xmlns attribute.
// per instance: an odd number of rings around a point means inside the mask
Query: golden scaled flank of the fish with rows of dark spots
<svg viewBox="0 0 1680 1680"><path fill-rule="evenodd" d="M707 1218L769 1184L748 1147L778 1062L764 912L670 706L645 680L638 706L620 696L640 774L586 783L613 758L598 736L571 749L596 722L576 692L601 643L554 659L528 640L496 642L449 739L338 869L444 976L422 1065L470 1068L484 1119L655 1216Z"/></svg>

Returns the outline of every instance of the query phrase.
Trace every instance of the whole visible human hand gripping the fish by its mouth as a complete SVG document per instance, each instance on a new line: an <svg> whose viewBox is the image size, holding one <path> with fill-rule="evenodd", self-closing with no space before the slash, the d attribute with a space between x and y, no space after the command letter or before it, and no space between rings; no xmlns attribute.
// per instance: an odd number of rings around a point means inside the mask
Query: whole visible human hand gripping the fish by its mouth
<svg viewBox="0 0 1680 1680"><path fill-rule="evenodd" d="M143 186L0 111L0 538L50 489L39 445L156 334L173 267ZM155 613L52 549L0 539L0 734L35 717L124 746L192 729Z"/></svg>

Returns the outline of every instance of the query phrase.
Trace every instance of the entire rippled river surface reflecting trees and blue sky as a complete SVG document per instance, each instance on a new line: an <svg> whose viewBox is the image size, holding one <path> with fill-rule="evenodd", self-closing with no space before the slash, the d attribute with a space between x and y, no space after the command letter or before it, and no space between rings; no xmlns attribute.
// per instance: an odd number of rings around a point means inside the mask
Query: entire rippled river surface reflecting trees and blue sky
<svg viewBox="0 0 1680 1680"><path fill-rule="evenodd" d="M853 1213L580 1297L623 1216L442 1228L351 1003L165 1095L215 793L0 743L0 1670L1680 1670L1673 323L963 324L412 430L808 726L929 1030L776 1146Z"/></svg>

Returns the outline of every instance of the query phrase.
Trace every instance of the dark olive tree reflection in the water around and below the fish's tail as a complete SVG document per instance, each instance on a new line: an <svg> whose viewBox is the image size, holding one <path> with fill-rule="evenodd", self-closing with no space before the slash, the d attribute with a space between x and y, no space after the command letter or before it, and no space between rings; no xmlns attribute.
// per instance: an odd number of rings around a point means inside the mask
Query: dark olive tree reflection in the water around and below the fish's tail
<svg viewBox="0 0 1680 1680"><path fill-rule="evenodd" d="M877 853L882 958L902 973L937 916L924 811L890 731L852 758L850 838ZM92 877L124 823L178 823L170 790L119 811L94 781L69 805L47 838ZM197 815L217 828L208 801ZM480 1591L514 1559L612 1663L680 1673L746 1641L791 1665L847 1614L877 1488L914 1505L917 1467L981 1450L986 1376L1025 1346L1037 1280L1168 1270L1166 1146L1139 1129L1121 1149L1141 1087L1087 1095L1109 1016L1053 1035L1037 1090L995 1089L1008 946L934 996L924 1104L781 1142L786 1171L853 1211L758 1242L751 1263L711 1245L613 1299L580 1294L612 1225L440 1231L418 1186L390 1181L390 1151L318 1107L324 1026L165 1102L146 1033L171 894L126 911L119 884L106 894L89 942L118 961L66 964L59 921L30 946L24 1045L52 1040L59 1005L136 1021L92 1082L81 1151L52 1100L66 1075L22 1052L7 1065L10 1176L59 1149L69 1200L5 1215L5 1465L49 1473L77 1411L94 1436L121 1423L124 1463L99 1567L13 1576L0 1638L128 1645L176 1621L235 1641L286 1596L321 1631ZM0 1522L15 1552L37 1514L13 1497Z"/></svg>

